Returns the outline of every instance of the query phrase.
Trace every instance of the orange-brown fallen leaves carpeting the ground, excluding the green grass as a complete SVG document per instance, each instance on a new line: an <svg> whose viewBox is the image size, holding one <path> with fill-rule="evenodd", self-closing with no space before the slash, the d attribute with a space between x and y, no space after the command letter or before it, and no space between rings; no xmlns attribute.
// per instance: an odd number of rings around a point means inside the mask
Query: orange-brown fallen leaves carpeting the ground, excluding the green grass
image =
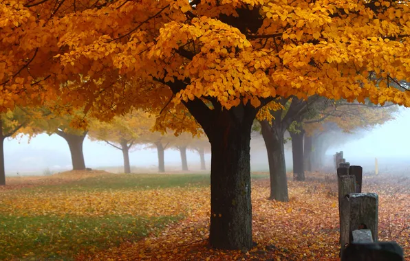
<svg viewBox="0 0 410 261"><path fill-rule="evenodd" d="M118 175L116 179L127 177L130 176ZM178 175L167 177L181 179ZM307 177L305 182L289 181L288 203L268 200L268 179L252 181L252 230L257 245L250 251L220 251L208 247L209 188L197 183L173 188L67 190L64 186L55 186L55 190L42 187L36 190L3 190L0 191L0 214L21 218L56 217L67 221L63 224L65 228L70 227L70 219L78 218L146 216L148 219L144 219L144 226L155 227L156 221L152 218L184 217L178 222L164 223L163 229L147 230L148 234L141 239L136 239L138 237L134 235L138 231L121 219L115 229L99 225L83 229L80 232L83 236L98 234L98 231L102 234L117 233L122 242L120 240L119 245L109 245L105 249L84 246L82 251L76 252L76 260L338 260L336 179L332 175L325 178L324 174L318 173L307 174ZM101 183L105 179L96 177L87 182ZM380 240L396 240L404 248L404 253L408 253L409 184L404 181L398 183L391 177L365 177L363 184L364 192L379 194ZM45 227L42 229L37 232L21 229L14 233L37 237L44 234L47 238ZM73 236L64 244L75 245L80 238ZM64 244L58 246L64 249ZM8 249L12 251L10 247Z"/></svg>

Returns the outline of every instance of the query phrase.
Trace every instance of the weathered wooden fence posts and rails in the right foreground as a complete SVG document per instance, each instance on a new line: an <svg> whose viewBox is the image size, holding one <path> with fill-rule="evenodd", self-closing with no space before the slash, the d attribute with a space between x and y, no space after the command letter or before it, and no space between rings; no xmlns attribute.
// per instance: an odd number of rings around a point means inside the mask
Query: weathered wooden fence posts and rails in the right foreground
<svg viewBox="0 0 410 261"><path fill-rule="evenodd" d="M402 261L396 242L378 241L378 194L362 193L363 168L334 155L338 176L341 261Z"/></svg>

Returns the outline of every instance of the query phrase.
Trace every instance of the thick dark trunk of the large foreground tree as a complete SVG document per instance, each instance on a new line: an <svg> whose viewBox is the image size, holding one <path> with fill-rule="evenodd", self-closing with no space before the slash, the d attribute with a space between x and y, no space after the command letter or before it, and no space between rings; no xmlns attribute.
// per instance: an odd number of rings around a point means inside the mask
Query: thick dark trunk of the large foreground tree
<svg viewBox="0 0 410 261"><path fill-rule="evenodd" d="M224 109L215 113L208 129L212 153L210 242L218 249L252 247L250 132L256 111Z"/></svg>

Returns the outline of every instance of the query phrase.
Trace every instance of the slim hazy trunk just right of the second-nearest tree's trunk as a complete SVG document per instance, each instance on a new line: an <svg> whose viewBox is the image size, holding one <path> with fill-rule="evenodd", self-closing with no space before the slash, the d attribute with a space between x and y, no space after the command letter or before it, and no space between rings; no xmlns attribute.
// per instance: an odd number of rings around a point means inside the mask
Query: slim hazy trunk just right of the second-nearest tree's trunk
<svg viewBox="0 0 410 261"><path fill-rule="evenodd" d="M300 132L290 132L292 137L293 180L304 181L305 170L303 169L303 129L296 127Z"/></svg>

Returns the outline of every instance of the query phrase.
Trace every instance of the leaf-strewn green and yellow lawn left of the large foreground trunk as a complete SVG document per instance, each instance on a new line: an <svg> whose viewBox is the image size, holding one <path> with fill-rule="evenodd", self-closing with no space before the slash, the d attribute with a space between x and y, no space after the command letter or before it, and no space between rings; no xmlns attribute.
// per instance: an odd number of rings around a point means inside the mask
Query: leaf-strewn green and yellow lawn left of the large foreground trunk
<svg viewBox="0 0 410 261"><path fill-rule="evenodd" d="M155 212L136 198L159 199L158 190L167 194L170 188L184 194L208 188L209 182L209 174L107 174L0 190L0 260L74 260L77 253L135 242L180 220L189 209L176 205L177 211Z"/></svg>

